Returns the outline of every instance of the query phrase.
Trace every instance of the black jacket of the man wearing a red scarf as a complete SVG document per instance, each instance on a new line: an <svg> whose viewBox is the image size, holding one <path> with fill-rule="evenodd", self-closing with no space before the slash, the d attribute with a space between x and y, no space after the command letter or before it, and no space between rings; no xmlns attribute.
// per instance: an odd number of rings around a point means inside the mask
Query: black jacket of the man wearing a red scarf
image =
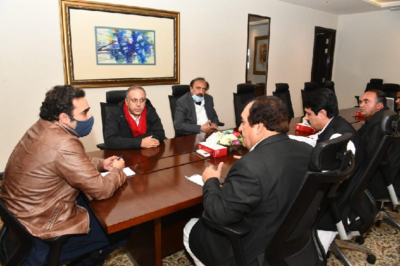
<svg viewBox="0 0 400 266"><path fill-rule="evenodd" d="M123 104L125 104L125 100L121 101L118 104L118 108L112 110L105 120L104 144L107 149L138 149L141 145L141 139L148 136L163 141L165 132L161 120L148 99L146 99L146 133L138 137L133 136L128 121L125 118Z"/></svg>

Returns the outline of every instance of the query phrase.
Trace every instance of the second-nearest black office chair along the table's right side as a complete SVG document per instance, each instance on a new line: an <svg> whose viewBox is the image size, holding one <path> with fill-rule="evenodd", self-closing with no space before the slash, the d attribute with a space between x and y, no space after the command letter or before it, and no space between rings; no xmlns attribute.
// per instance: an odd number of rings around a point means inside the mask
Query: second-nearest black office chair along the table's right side
<svg viewBox="0 0 400 266"><path fill-rule="evenodd" d="M366 186L372 178L372 175L377 169L379 163L384 160L387 151L395 142L398 141L399 136L395 136L393 134L393 128L391 126L392 121L394 121L395 119L396 113L394 111L387 110L383 113L382 119L380 121L380 129L385 135L377 146L374 155L369 160L369 162L367 162L366 165L362 167L360 175L356 178L351 178L351 181L353 182L353 184L355 184L355 186L348 184L348 186L343 191L341 191L341 194L337 196L337 198L341 197L342 202L345 202L346 206L348 206L349 204L349 206L355 213L355 215L353 215L353 218L355 218L356 216L359 217L359 219L357 220L350 218L350 224L347 224L347 219L341 219L342 223L344 224L346 233L340 234L339 231L339 236L341 240L335 239L329 248L330 251L336 256L336 258L341 260L346 266L351 266L351 263L339 247L364 252L367 254L367 262L370 264L375 263L376 258L374 255L372 255L370 249L342 240L349 240L353 236L360 235L356 238L356 242L362 245L364 242L363 236L373 227L376 221L376 203L368 190L366 190ZM348 193L350 193L350 196L347 198L345 195ZM335 204L335 202L331 204ZM339 204L337 206L337 210L339 210L340 212L340 210L343 209L343 204ZM339 228L337 229L340 230Z"/></svg>

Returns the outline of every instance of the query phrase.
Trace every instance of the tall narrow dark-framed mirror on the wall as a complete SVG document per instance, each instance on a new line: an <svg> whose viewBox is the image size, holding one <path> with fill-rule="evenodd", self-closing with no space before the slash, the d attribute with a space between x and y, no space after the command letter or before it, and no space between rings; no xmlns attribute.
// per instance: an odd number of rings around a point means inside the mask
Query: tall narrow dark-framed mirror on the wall
<svg viewBox="0 0 400 266"><path fill-rule="evenodd" d="M246 83L254 84L258 95L265 95L270 21L267 16L248 14Z"/></svg>

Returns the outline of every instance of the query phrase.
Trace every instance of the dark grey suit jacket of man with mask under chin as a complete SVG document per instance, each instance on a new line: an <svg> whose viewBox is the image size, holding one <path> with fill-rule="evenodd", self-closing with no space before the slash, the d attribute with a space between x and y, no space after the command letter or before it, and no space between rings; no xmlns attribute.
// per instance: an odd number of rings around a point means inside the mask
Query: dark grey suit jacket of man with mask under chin
<svg viewBox="0 0 400 266"><path fill-rule="evenodd" d="M204 109L208 120L218 125L218 116L214 110L214 101L212 96L204 94ZM186 92L176 101L175 121L173 121L175 130L184 131L191 134L200 133L201 125L197 125L196 109L190 92Z"/></svg>

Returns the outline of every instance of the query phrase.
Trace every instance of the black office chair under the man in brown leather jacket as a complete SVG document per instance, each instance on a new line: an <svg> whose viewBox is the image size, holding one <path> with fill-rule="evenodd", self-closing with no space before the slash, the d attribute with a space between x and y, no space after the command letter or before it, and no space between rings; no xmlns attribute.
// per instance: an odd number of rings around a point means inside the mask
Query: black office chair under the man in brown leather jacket
<svg viewBox="0 0 400 266"><path fill-rule="evenodd" d="M3 226L0 229L0 262L2 266L22 265L32 247L32 236L25 227L8 211L0 200L0 217ZM50 245L47 266L64 265L71 262L59 263L62 245L73 235L64 235L43 240Z"/></svg>

